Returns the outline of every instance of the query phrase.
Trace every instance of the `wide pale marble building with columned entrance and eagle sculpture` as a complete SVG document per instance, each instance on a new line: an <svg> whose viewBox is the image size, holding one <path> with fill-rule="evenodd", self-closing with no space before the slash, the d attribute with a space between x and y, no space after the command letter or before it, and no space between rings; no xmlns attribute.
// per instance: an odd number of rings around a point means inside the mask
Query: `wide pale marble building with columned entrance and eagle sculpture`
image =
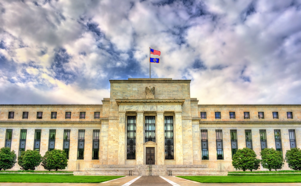
<svg viewBox="0 0 301 186"><path fill-rule="evenodd" d="M237 149L300 147L300 124L301 105L202 105L190 80L129 78L102 105L0 105L0 147L62 149L77 175L223 175Z"/></svg>

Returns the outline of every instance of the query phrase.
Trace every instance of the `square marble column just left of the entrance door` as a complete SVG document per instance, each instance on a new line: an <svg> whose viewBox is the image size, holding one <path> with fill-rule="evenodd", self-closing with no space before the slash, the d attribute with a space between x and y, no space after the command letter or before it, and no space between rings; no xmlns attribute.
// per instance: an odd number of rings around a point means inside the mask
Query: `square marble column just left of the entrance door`
<svg viewBox="0 0 301 186"><path fill-rule="evenodd" d="M137 111L136 118L136 165L143 165L143 111Z"/></svg>

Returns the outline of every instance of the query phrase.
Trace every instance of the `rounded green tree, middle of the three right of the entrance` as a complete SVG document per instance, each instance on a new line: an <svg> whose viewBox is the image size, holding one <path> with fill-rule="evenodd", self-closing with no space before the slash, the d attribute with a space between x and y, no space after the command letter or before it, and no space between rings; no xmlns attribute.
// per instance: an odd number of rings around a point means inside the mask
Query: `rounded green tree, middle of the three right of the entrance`
<svg viewBox="0 0 301 186"><path fill-rule="evenodd" d="M273 148L265 148L260 152L261 155L261 165L263 168L271 171L272 169L281 169L284 165L284 160L282 157L282 153L280 151L276 151Z"/></svg>

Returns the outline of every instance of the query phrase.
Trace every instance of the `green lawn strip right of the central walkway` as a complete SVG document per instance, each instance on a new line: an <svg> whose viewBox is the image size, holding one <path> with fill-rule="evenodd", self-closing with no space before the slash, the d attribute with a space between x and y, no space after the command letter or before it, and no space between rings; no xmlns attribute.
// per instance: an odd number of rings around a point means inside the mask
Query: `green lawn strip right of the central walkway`
<svg viewBox="0 0 301 186"><path fill-rule="evenodd" d="M176 176L200 183L296 183L301 176Z"/></svg>

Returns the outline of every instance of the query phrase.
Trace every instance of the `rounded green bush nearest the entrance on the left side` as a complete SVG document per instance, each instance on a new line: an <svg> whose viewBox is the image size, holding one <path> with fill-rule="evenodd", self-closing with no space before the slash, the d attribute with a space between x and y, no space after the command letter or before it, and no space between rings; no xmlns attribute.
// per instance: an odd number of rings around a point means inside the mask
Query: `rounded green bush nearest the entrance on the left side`
<svg viewBox="0 0 301 186"><path fill-rule="evenodd" d="M46 170L62 170L67 167L67 157L66 153L62 150L54 149L52 151L47 151L43 157L42 166Z"/></svg>

